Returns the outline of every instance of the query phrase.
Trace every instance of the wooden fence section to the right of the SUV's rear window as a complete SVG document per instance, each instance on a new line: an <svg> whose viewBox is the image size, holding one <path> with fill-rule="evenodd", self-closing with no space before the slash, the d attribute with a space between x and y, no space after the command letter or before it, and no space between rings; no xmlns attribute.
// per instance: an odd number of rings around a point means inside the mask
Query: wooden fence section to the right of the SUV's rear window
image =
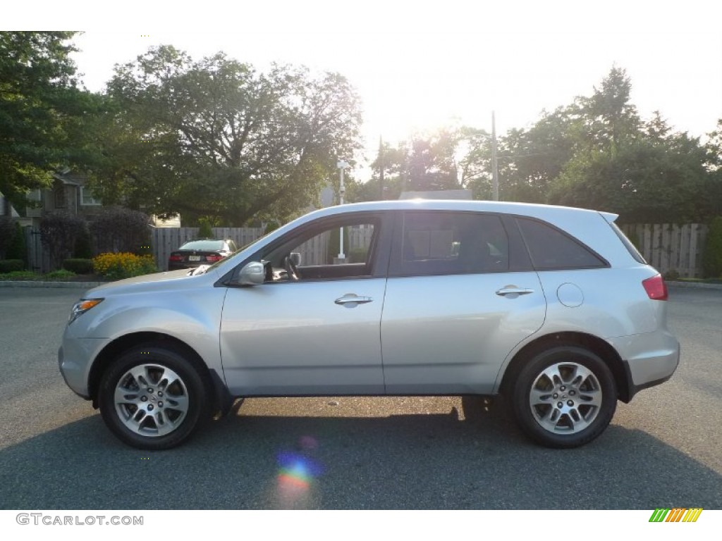
<svg viewBox="0 0 722 541"><path fill-rule="evenodd" d="M702 253L707 237L703 224L636 224L621 229L638 247L645 260L663 275L682 278L703 276Z"/></svg>

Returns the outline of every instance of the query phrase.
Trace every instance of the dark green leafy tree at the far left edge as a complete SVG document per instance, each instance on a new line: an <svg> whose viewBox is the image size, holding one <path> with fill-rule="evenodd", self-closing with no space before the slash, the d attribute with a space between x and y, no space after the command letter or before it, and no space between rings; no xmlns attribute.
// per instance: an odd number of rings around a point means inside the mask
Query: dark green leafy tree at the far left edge
<svg viewBox="0 0 722 541"><path fill-rule="evenodd" d="M95 153L84 121L95 95L78 87L68 42L77 32L0 32L0 191L17 208L59 167Z"/></svg>

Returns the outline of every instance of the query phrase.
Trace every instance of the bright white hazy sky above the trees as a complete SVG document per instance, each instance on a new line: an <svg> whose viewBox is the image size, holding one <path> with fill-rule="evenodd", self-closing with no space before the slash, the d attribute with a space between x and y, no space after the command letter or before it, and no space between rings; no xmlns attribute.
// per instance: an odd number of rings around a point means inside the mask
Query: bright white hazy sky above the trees
<svg viewBox="0 0 722 541"><path fill-rule="evenodd" d="M15 4L13 4L15 5ZM605 0L48 0L12 8L4 30L82 30L82 81L103 89L116 63L169 44L337 71L362 99L365 157L378 140L465 124L526 128L625 69L643 119L705 136L722 118L722 2ZM13 11L17 10L17 11ZM357 157L362 167L363 157Z"/></svg>

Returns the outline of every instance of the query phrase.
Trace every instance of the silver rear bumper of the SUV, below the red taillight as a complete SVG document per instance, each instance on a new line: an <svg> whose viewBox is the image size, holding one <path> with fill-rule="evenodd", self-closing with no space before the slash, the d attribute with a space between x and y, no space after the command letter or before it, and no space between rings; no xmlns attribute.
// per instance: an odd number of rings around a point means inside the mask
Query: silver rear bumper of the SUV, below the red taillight
<svg viewBox="0 0 722 541"><path fill-rule="evenodd" d="M640 390L666 382L679 366L679 341L666 330L610 338L627 374L627 401Z"/></svg>

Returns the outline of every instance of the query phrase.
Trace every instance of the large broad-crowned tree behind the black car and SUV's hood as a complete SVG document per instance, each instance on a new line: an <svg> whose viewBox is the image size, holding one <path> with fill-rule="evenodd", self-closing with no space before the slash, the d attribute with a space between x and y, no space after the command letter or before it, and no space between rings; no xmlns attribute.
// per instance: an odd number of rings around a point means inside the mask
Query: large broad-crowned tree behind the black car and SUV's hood
<svg viewBox="0 0 722 541"><path fill-rule="evenodd" d="M105 121L112 157L94 188L156 214L242 225L312 203L339 156L360 148L357 95L339 74L223 53L193 61L171 46L119 66Z"/></svg>

